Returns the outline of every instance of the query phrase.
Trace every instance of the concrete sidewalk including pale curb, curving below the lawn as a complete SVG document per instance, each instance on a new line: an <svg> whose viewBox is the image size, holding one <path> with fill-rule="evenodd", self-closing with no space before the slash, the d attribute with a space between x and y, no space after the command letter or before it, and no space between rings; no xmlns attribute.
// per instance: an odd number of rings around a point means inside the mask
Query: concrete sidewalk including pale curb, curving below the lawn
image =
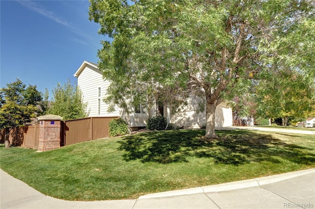
<svg viewBox="0 0 315 209"><path fill-rule="evenodd" d="M0 180L1 209L315 209L315 169L94 202L45 196L2 170Z"/></svg>

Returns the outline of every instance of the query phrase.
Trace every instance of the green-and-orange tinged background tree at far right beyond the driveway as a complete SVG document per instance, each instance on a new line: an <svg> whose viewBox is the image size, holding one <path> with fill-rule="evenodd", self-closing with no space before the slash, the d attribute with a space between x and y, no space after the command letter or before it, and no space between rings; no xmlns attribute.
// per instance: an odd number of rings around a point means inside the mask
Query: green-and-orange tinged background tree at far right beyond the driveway
<svg viewBox="0 0 315 209"><path fill-rule="evenodd" d="M256 86L257 115L264 118L305 118L315 107L315 80L296 71L268 74ZM278 77L278 78L277 78Z"/></svg>

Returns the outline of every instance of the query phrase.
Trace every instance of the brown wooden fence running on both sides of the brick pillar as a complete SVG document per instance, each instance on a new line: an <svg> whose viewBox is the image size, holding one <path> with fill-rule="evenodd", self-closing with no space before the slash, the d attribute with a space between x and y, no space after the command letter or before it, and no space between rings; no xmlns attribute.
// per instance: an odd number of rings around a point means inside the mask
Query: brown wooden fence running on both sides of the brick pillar
<svg viewBox="0 0 315 209"><path fill-rule="evenodd" d="M118 117L90 117L64 121L61 123L60 145L109 137L109 122L115 118ZM37 149L38 136L39 125L32 125L10 131L9 140L14 146ZM4 143L4 130L1 130L1 143Z"/></svg>

